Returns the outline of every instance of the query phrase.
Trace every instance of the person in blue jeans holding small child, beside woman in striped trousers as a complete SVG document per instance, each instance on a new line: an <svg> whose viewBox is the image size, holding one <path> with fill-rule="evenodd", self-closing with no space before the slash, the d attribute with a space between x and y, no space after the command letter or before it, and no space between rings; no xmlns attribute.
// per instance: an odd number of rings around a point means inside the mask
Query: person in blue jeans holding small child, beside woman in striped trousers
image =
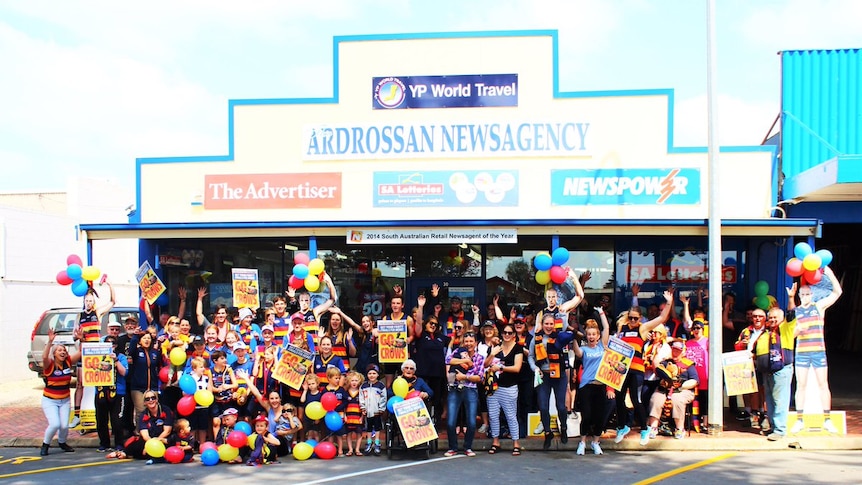
<svg viewBox="0 0 862 485"><path fill-rule="evenodd" d="M457 323L463 325L462 323ZM466 365L466 372L455 374L457 389L449 392L448 419L446 420L446 431L449 438L449 450L444 456L455 456L458 454L458 434L455 424L458 421L458 410L463 406L467 416L467 432L464 433L464 454L476 456L473 451L473 438L476 435L476 413L479 407L479 391L477 386L482 382L485 358L476 349L476 334L468 332L464 334L463 345L458 347L446 357L449 366Z"/></svg>

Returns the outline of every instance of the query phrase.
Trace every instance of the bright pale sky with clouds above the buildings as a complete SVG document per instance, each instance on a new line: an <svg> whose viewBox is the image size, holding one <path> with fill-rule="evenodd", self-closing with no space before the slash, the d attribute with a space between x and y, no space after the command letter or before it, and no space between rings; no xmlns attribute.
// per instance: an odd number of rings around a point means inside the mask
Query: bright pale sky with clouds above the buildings
<svg viewBox="0 0 862 485"><path fill-rule="evenodd" d="M858 0L715 4L722 145L767 134L779 51L862 47ZM561 91L674 89L675 145L706 145L706 0L0 0L0 191L227 154L228 100L332 96L335 36L528 29Z"/></svg>

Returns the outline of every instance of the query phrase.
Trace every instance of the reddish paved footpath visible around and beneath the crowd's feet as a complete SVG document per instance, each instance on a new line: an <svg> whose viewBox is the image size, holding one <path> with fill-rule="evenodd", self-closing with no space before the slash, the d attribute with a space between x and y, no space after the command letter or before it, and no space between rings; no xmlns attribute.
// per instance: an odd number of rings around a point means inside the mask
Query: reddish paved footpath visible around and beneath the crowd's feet
<svg viewBox="0 0 862 485"><path fill-rule="evenodd" d="M47 426L40 403L42 382L39 379L28 379L0 384L0 447L32 447L38 448ZM852 402L848 402L852 401ZM805 450L859 450L862 449L862 403L856 400L842 400L845 406L836 403L836 410L842 410L846 415L846 435L811 435L801 433L798 436L788 436L779 441L769 441L760 434L759 429L743 427L742 423L732 416L726 416L724 429L718 436L708 436L694 433L685 439L677 440L671 437L658 437L651 440L647 446L640 446L639 434L630 433L621 443L613 441L615 432L609 431L602 437L602 448L605 450L715 450L715 451L756 451L780 450L797 448ZM850 406L847 406L847 405ZM848 409L853 407L853 409ZM792 423L791 423L792 425ZM441 433L440 448L446 448L445 430ZM567 444L562 444L559 438L554 440L552 450L574 452L580 438L570 438ZM98 439L95 432L81 435L72 430L68 442L73 447L96 448ZM463 437L459 438L463 443ZM521 440L525 450L541 450L542 438ZM511 450L511 440L503 440L504 451ZM53 442L56 446L56 438ZM487 450L491 440L485 435L477 435L473 449L477 452Z"/></svg>

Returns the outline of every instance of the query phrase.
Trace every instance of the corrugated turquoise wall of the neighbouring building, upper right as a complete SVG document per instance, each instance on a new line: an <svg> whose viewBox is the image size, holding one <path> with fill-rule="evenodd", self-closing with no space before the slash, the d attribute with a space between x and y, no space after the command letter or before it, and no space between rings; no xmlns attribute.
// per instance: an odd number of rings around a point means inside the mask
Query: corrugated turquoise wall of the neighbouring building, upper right
<svg viewBox="0 0 862 485"><path fill-rule="evenodd" d="M862 49L784 51L781 76L787 177L862 153Z"/></svg>

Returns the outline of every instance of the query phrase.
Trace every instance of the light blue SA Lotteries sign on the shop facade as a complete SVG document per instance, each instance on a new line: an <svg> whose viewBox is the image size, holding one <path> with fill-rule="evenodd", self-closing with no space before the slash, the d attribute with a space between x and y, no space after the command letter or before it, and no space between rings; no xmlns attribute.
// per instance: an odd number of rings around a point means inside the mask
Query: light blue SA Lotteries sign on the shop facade
<svg viewBox="0 0 862 485"><path fill-rule="evenodd" d="M374 172L374 207L517 207L518 173Z"/></svg>

